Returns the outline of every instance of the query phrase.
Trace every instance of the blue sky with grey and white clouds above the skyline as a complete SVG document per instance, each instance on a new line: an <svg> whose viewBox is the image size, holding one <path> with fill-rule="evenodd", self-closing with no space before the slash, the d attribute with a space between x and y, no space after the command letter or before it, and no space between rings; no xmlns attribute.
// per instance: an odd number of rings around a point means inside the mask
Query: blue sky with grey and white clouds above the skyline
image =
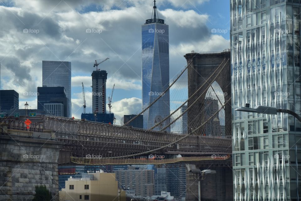
<svg viewBox="0 0 301 201"><path fill-rule="evenodd" d="M171 79L185 66L186 53L230 47L229 1L156 4L169 25ZM141 25L151 18L152 6L153 0L0 0L0 89L16 90L19 108L28 101L34 109L42 60L70 61L72 116L80 118L81 84L86 111L92 112L93 62L109 57L99 68L108 72L108 95L115 83L112 111L117 122L124 114L136 114L142 103Z"/></svg>

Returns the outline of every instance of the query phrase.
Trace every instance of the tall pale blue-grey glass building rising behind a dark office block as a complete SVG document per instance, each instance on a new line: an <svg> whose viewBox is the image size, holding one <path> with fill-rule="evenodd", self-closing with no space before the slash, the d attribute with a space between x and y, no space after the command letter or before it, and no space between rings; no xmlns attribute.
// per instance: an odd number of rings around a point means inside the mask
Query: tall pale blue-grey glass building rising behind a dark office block
<svg viewBox="0 0 301 201"><path fill-rule="evenodd" d="M68 98L68 110L65 116L71 117L71 62L42 61L42 79L42 86L65 88Z"/></svg>

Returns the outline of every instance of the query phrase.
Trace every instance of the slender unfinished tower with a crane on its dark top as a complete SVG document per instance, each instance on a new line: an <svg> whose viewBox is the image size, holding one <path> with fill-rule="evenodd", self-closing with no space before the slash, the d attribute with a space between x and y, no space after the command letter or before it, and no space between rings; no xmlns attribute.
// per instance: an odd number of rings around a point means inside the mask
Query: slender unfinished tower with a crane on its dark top
<svg viewBox="0 0 301 201"><path fill-rule="evenodd" d="M92 72L92 112L105 114L106 110L106 83L108 73L105 70Z"/></svg>

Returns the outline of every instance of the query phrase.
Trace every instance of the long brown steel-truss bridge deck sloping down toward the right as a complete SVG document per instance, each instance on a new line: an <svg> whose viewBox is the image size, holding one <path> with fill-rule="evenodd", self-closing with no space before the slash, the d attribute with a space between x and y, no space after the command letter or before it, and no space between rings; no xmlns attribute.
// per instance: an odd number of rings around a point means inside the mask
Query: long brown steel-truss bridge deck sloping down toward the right
<svg viewBox="0 0 301 201"><path fill-rule="evenodd" d="M24 121L31 120L27 129ZM208 154L232 154L231 139L166 133L129 128L66 117L5 117L0 120L9 129L52 133L65 144L72 157L101 155L105 158L133 158L139 155L176 155L183 157ZM185 137L187 136L187 137Z"/></svg>

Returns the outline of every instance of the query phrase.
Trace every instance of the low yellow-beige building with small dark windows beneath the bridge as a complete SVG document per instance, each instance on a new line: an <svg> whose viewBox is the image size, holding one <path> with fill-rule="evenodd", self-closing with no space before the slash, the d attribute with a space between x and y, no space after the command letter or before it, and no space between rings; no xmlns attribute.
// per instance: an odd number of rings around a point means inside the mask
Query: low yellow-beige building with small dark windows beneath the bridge
<svg viewBox="0 0 301 201"><path fill-rule="evenodd" d="M115 173L83 173L82 178L70 177L65 184L59 192L60 201L125 201L125 191L118 189Z"/></svg>

